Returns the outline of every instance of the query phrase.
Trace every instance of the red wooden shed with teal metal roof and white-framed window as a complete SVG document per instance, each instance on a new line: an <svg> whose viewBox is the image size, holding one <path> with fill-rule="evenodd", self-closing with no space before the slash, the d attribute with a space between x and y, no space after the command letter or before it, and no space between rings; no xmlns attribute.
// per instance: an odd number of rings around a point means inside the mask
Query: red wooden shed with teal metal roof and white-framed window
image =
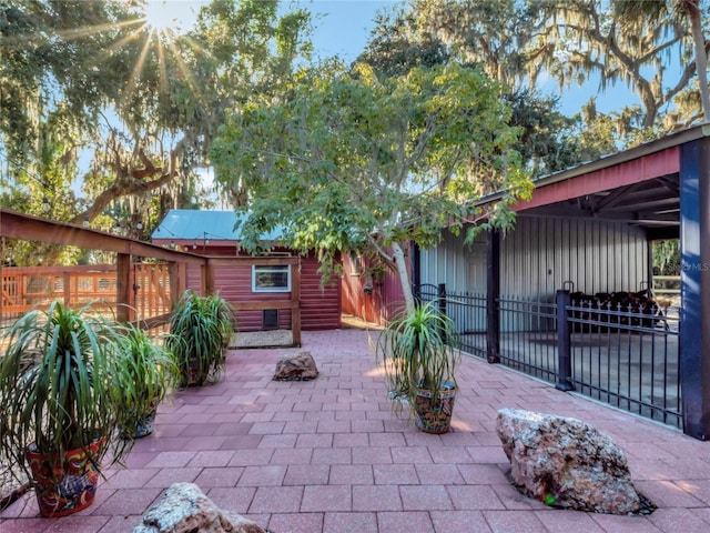
<svg viewBox="0 0 710 533"><path fill-rule="evenodd" d="M239 219L234 211L171 210L155 228L151 239L154 244L170 247L184 252L211 258L254 258L241 249ZM273 249L257 258L268 258L268 264L217 265L214 268L214 288L227 301L254 302L261 309L242 310L237 314L242 332L270 329L288 329L291 310L264 308L264 302L283 300L284 293L294 288L292 268L301 273L300 308L303 330L332 330L341 326L341 278L332 276L324 282L318 272L321 263L314 253L301 255L278 245L280 234L263 235ZM277 258L284 263L274 264ZM291 258L288 261L286 259ZM202 272L199 266L187 265L186 286L199 288Z"/></svg>

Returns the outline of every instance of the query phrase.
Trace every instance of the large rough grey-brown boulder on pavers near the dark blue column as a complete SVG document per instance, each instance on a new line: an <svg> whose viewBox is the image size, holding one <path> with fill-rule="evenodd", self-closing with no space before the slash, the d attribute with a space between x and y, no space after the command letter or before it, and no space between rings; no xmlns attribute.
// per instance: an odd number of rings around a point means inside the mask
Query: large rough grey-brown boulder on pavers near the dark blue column
<svg viewBox="0 0 710 533"><path fill-rule="evenodd" d="M510 460L513 482L548 505L628 514L642 502L623 451L576 419L501 409L496 431Z"/></svg>

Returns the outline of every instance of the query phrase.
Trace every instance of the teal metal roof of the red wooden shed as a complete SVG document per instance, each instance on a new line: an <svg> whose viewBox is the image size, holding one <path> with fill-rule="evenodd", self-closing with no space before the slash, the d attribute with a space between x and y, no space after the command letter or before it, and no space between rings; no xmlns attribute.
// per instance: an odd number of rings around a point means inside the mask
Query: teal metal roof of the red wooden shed
<svg viewBox="0 0 710 533"><path fill-rule="evenodd" d="M151 233L151 239L211 239L214 241L239 241L240 229L235 229L237 218L234 211L200 211L194 209L171 209L163 221ZM276 229L262 235L262 240L276 241L281 231Z"/></svg>

